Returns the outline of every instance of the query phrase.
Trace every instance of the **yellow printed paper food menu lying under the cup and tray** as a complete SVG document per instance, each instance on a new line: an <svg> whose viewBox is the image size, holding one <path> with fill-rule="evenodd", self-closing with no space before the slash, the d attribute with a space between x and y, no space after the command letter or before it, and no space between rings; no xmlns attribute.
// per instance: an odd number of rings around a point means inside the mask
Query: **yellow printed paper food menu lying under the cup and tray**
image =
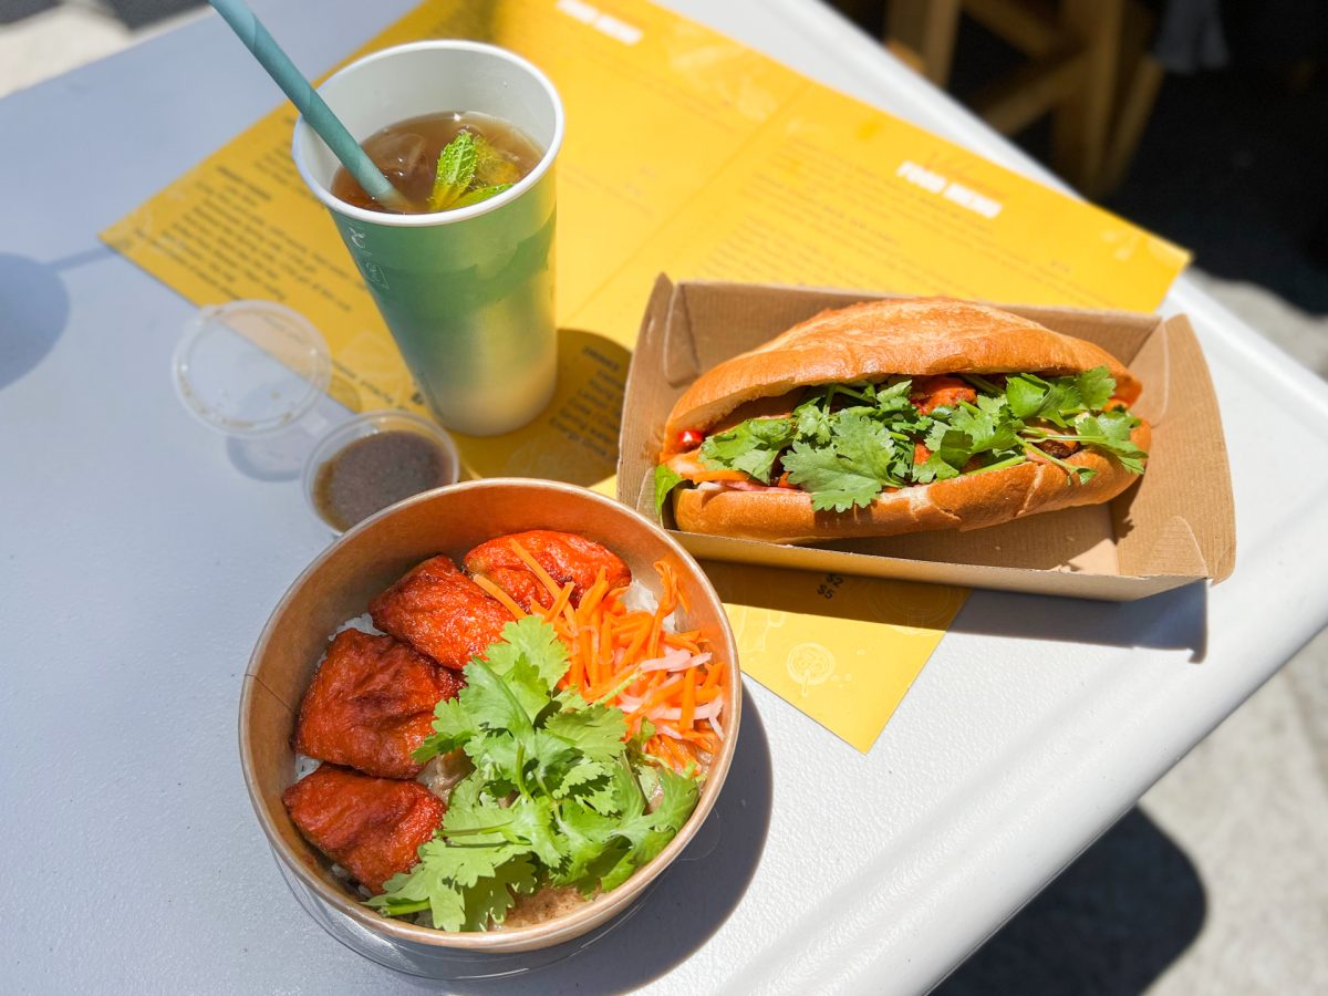
<svg viewBox="0 0 1328 996"><path fill-rule="evenodd" d="M523 54L567 112L559 388L531 426L458 438L475 475L603 486L629 349L660 271L1149 311L1187 260L644 0L437 0L353 57L425 37ZM328 340L331 392L348 406L420 408L332 222L295 171L293 122L288 105L276 109L102 238L198 304L263 297L304 313ZM916 587L892 582L716 571L732 592L745 671L859 749L961 603L946 588L914 596ZM846 595L826 599L827 586ZM932 606L916 625L846 608L910 598Z"/></svg>

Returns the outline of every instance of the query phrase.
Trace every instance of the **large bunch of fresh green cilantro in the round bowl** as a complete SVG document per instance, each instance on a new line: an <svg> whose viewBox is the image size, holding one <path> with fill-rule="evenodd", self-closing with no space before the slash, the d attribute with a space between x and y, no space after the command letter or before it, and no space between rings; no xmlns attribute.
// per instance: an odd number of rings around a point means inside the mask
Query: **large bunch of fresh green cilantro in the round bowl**
<svg viewBox="0 0 1328 996"><path fill-rule="evenodd" d="M628 738L620 709L558 691L566 671L567 648L537 616L509 623L465 667L466 687L438 703L414 757L463 750L474 772L452 790L420 862L369 906L428 910L438 930L487 930L517 895L546 884L608 891L673 839L696 807L697 780L647 758L649 724Z"/></svg>

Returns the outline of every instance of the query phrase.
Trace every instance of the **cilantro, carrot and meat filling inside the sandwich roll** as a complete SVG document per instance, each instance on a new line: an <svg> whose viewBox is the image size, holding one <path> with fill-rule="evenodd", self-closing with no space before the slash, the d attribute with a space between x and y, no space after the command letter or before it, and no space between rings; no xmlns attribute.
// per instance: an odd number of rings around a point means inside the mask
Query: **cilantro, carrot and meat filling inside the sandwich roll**
<svg viewBox="0 0 1328 996"><path fill-rule="evenodd" d="M1147 453L1130 438L1139 420L1116 396L1106 367L1068 377L956 373L829 384L772 400L760 414L708 430L685 429L655 469L663 510L680 486L795 489L815 511L866 507L886 491L1052 463L1065 483L1090 479L1068 462L1080 449L1143 473ZM742 414L742 409L738 410Z"/></svg>

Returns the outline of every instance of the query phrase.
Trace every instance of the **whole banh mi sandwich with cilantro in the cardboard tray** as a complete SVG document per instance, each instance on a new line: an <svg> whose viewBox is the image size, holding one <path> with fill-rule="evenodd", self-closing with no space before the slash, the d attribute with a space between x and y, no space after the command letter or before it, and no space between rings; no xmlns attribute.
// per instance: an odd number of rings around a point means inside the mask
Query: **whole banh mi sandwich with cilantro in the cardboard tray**
<svg viewBox="0 0 1328 996"><path fill-rule="evenodd" d="M1106 502L1143 473L1141 390L1104 349L996 308L855 304L699 377L655 499L685 531L778 543Z"/></svg>

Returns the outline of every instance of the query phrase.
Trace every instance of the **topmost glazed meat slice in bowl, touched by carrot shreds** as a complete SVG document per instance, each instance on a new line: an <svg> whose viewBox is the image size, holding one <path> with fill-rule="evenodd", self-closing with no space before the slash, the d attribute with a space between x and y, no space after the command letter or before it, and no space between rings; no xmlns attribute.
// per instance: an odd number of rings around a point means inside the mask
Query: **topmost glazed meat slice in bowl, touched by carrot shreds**
<svg viewBox="0 0 1328 996"><path fill-rule="evenodd" d="M531 559L558 584L572 582L574 606L580 604L582 596L595 583L600 571L604 571L610 588L629 584L632 580L627 564L611 550L575 533L555 533L546 529L513 533L481 543L466 554L467 571L483 575L527 610L537 604L548 608L552 596L513 548L513 542L521 543L522 550L530 554Z"/></svg>

